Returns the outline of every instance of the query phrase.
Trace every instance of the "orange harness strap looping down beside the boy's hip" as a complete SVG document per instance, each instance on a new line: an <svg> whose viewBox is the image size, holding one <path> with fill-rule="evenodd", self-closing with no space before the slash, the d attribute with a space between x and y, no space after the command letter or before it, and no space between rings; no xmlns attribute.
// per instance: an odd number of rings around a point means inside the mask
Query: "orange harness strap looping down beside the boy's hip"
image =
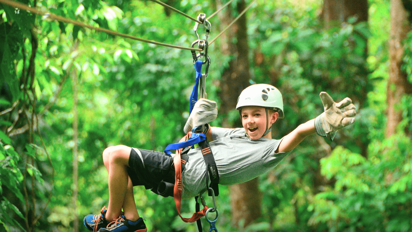
<svg viewBox="0 0 412 232"><path fill-rule="evenodd" d="M185 137L181 138L179 142L186 141L190 138L190 135L192 135L192 132L190 131L185 135ZM181 206L181 201L182 201L182 191L183 191L183 183L182 183L182 160L180 158L180 153L182 152L183 149L177 149L176 150L176 155L173 158L173 163L175 166L175 186L173 189L173 197L175 198L175 204L176 204L176 209L178 210L180 218L185 223L192 223L197 221L199 218L203 217L206 214L206 210L208 209L207 206L204 206L203 210L193 213L191 218L183 218L182 215L180 215L180 206Z"/></svg>

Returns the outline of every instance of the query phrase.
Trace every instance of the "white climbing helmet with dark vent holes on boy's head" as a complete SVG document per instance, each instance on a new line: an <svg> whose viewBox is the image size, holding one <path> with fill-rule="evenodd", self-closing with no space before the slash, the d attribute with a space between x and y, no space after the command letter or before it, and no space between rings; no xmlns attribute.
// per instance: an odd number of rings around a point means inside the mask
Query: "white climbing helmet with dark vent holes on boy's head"
<svg viewBox="0 0 412 232"><path fill-rule="evenodd" d="M281 92L273 85L255 84L244 89L237 99L236 110L246 106L265 107L279 113L284 118L283 98Z"/></svg>

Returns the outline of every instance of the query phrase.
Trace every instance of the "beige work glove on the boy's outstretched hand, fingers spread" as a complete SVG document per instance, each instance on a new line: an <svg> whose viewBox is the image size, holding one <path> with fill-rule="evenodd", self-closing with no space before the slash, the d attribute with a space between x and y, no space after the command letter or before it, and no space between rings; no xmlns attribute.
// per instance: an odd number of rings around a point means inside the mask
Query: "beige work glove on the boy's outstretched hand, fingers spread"
<svg viewBox="0 0 412 232"><path fill-rule="evenodd" d="M319 96L325 112L315 118L316 133L323 137L330 136L333 140L337 130L355 121L356 107L349 97L336 103L326 92L321 92Z"/></svg>

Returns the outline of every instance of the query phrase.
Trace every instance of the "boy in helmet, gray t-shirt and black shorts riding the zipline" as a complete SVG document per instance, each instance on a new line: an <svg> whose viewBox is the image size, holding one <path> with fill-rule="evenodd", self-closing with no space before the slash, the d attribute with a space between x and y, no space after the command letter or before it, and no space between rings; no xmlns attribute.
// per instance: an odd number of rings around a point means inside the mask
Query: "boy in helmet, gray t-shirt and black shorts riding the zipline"
<svg viewBox="0 0 412 232"><path fill-rule="evenodd" d="M267 84L251 85L238 99L243 128L212 127L205 134L210 141L219 184L233 185L251 180L274 168L297 144L313 133L333 136L336 130L353 123L356 116L351 99L335 103L326 93L320 94L325 112L299 125L281 140L272 139L271 126L283 118L283 99L277 88ZM216 102L199 99L184 131L205 125L217 117ZM197 196L210 182L200 148L187 153L189 159L182 171L183 199ZM109 173L109 205L99 215L87 215L84 225L92 231L146 232L133 198L133 186L157 187L159 182L174 183L173 158L164 152L147 151L118 145L103 152ZM122 212L123 208L123 212Z"/></svg>

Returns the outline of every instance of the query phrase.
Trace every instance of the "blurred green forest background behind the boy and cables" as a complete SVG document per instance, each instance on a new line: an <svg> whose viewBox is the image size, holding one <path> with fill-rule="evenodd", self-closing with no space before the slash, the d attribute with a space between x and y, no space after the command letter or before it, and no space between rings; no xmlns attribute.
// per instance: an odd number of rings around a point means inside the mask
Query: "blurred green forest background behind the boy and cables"
<svg viewBox="0 0 412 232"><path fill-rule="evenodd" d="M139 38L185 47L197 39L193 21L151 1L20 2ZM195 18L226 2L165 1ZM250 2L235 0L211 18L210 38ZM213 126L241 126L234 107L252 83L283 93L276 139L323 112L321 91L336 102L351 97L358 109L333 142L312 135L266 175L220 186L219 231L412 230L411 11L411 0L258 0L209 47ZM198 32L204 38L204 26ZM190 51L3 3L0 61L0 231L87 231L84 215L108 205L105 147L162 151L183 136ZM149 231L197 230L171 197L134 190ZM191 215L194 200L183 211Z"/></svg>

